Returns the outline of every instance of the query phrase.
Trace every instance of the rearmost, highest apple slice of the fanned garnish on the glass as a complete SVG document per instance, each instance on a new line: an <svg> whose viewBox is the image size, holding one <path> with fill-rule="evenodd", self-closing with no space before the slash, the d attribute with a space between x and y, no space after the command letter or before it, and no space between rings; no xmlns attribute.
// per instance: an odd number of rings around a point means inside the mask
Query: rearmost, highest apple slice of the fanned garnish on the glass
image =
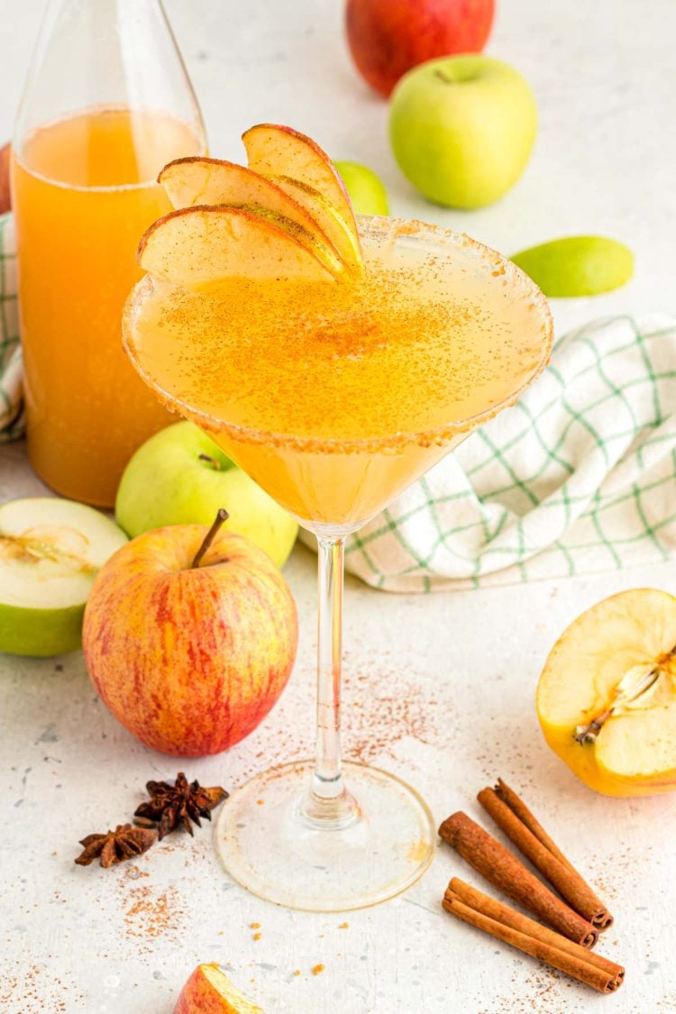
<svg viewBox="0 0 676 1014"><path fill-rule="evenodd" d="M242 141L249 168L264 176L271 176L286 191L290 180L303 185L305 191L303 187L296 188L291 196L319 222L346 264L351 267L361 265L362 252L352 202L341 174L319 145L291 127L276 124L251 127L242 135ZM325 222L318 219L301 200L303 192L306 195L311 192L318 194L333 210L336 221L332 231L328 231ZM317 203L316 198L314 202Z"/></svg>

